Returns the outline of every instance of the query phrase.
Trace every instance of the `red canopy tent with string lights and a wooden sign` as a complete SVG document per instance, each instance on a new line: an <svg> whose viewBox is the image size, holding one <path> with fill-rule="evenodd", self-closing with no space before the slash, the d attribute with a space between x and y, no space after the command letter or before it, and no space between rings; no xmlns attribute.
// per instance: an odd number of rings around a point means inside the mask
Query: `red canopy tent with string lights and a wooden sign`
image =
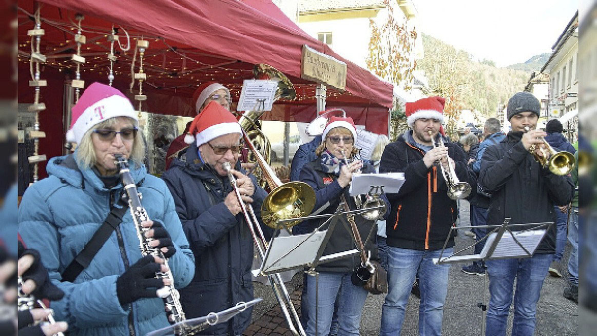
<svg viewBox="0 0 597 336"><path fill-rule="evenodd" d="M196 85L218 81L231 89L238 100L244 79L253 78L253 65L269 64L288 76L297 90L297 100L278 101L275 110L263 119L309 122L315 117L316 84L300 78L301 51L307 45L347 64L346 91L328 88L327 106L343 107L369 131L387 134L388 108L392 106L392 85L381 81L368 70L345 60L326 44L313 39L294 24L270 0L41 0L42 54L48 57L41 79L41 101L47 110L40 112L41 129L47 138L40 152L48 157L60 155L64 141L61 118L64 79L74 78L76 33L75 14L81 21L87 44L81 54L86 57L81 78L107 82L111 27L119 29L122 44L130 35L131 49L119 48L115 63L114 86L127 93L131 82L131 60L136 39L147 39L144 55L147 81L143 93L148 99L143 110L155 113L193 116L190 97ZM31 103L33 90L28 86L30 38L33 28L32 1L19 2L19 102ZM139 57L139 56L137 56ZM138 63L138 61L137 61ZM135 88L137 86L135 85ZM60 94L59 94L60 93ZM48 130L54 130L49 134ZM58 132L57 130L61 130ZM44 144L45 143L45 144ZM50 146L50 144L54 144Z"/></svg>

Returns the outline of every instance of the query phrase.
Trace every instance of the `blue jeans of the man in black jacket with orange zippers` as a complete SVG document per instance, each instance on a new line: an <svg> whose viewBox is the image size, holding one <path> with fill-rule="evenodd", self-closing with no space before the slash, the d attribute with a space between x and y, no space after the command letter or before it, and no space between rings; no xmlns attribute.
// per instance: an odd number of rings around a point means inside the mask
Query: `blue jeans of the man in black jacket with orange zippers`
<svg viewBox="0 0 597 336"><path fill-rule="evenodd" d="M444 255L450 255L453 251L454 248L447 248ZM418 333L419 335L441 335L450 264L433 264L432 258L438 258L440 253L441 250L417 251L388 246L389 288L386 301L381 306L380 335L400 335L402 322L404 322L404 310L417 270L421 290Z"/></svg>

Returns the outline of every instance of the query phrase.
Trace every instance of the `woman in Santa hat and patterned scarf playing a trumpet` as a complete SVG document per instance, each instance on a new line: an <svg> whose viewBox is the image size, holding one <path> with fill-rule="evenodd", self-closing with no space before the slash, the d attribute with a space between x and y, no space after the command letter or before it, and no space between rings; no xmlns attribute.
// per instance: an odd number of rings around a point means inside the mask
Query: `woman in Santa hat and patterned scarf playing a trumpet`
<svg viewBox="0 0 597 336"><path fill-rule="evenodd" d="M356 172L374 172L373 167L358 159L359 150L355 147L356 128L350 117L332 116L324 128L322 142L315 153L315 161L306 164L300 172L300 180L309 184L315 190L316 212L333 214L340 206L344 211L345 201L349 209L357 209L355 199L349 195L349 186L353 174ZM361 196L355 196L361 197ZM384 199L384 196L382 197ZM362 199L361 199L362 201ZM385 201L385 199L384 199ZM387 202L386 202L387 205ZM375 220L365 220L361 215L353 215L347 219L342 215L342 221L354 221L365 251L371 253L373 260L377 259L377 247L373 232ZM312 232L321 226L326 218L307 220L303 229ZM327 229L326 224L324 229ZM323 255L354 249L352 231L343 223L338 222L330 240L325 246ZM365 252L365 253L367 253ZM315 270L318 278L307 277L307 335L328 335L332 326L334 307L337 306L338 335L358 335L361 323L362 308L368 291L363 288L364 283L355 283L353 270L361 266L359 255L330 261L318 265ZM366 271L368 273L368 271ZM356 279L355 279L356 280Z"/></svg>

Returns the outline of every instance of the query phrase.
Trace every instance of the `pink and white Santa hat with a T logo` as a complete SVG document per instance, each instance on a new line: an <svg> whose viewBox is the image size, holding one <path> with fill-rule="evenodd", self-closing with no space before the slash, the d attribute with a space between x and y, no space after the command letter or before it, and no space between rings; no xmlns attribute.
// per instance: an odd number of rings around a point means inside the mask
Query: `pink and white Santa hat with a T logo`
<svg viewBox="0 0 597 336"><path fill-rule="evenodd" d="M128 116L135 120L135 126L139 125L133 104L124 94L109 85L94 82L85 89L72 108L66 141L80 143L85 132L94 125L116 116Z"/></svg>

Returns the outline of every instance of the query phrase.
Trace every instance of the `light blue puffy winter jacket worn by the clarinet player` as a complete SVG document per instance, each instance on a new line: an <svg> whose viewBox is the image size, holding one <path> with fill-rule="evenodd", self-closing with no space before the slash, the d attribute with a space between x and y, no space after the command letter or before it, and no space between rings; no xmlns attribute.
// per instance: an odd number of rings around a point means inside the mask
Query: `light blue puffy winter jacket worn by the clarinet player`
<svg viewBox="0 0 597 336"><path fill-rule="evenodd" d="M76 152L75 152L76 155ZM53 158L49 177L27 188L19 206L19 233L29 248L38 249L50 278L66 295L51 303L57 320L69 323L73 335L145 335L168 325L161 298L143 298L122 306L116 279L141 258L139 240L129 211L122 223L74 283L60 282L61 273L83 249L110 212L121 184L108 190L91 169L79 170L72 155ZM176 253L168 260L176 288L193 278L193 254L182 230L170 191L144 167L131 174L143 195L149 218L164 223Z"/></svg>

